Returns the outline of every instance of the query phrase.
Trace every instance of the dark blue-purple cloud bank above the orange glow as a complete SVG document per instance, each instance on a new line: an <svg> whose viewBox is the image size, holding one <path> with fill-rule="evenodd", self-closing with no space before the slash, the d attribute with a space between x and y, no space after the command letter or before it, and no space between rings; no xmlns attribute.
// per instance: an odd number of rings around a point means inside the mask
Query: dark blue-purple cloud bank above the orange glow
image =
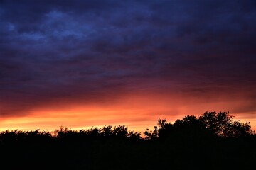
<svg viewBox="0 0 256 170"><path fill-rule="evenodd" d="M250 98L255 7L255 1L1 1L2 115L63 98L90 103L146 86L168 91L171 84L179 84L171 91L213 89L220 96L229 86Z"/></svg>

